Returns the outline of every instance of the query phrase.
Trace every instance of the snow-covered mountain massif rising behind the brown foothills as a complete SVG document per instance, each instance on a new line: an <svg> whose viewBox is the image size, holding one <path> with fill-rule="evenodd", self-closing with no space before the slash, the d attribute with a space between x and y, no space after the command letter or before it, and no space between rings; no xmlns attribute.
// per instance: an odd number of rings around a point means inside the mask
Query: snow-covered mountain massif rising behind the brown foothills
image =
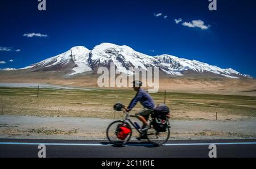
<svg viewBox="0 0 256 169"><path fill-rule="evenodd" d="M167 75L185 75L187 71L192 73L212 73L228 78L251 78L233 69L221 69L196 60L187 60L168 54L161 56L148 56L139 53L125 45L119 46L110 43L102 43L92 50L85 47L73 47L65 53L48 58L37 64L33 64L23 69L30 71L65 71L68 75L76 75L86 72L96 72L100 66L109 66L113 62L116 69L121 73L133 74L129 67L141 67L147 69L148 66L159 67Z"/></svg>

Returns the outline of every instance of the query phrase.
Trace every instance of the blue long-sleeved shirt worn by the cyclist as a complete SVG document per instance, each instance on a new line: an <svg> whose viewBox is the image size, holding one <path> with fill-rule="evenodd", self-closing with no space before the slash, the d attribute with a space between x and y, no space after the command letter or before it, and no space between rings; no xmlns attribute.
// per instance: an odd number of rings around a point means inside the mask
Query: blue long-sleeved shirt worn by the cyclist
<svg viewBox="0 0 256 169"><path fill-rule="evenodd" d="M141 103L143 107L146 107L148 109L155 108L155 102L151 98L151 96L144 91L142 88L140 88L134 97L133 100L131 100L130 105L128 106L129 111L135 107L137 103Z"/></svg>

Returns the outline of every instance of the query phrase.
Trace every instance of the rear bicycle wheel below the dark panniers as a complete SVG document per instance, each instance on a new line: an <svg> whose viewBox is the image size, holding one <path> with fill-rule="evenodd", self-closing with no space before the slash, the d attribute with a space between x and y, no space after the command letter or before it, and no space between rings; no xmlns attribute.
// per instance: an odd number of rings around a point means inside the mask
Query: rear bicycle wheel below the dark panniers
<svg viewBox="0 0 256 169"><path fill-rule="evenodd" d="M147 130L147 140L155 146L166 143L170 138L170 128L167 127L165 132L158 132L154 128Z"/></svg>

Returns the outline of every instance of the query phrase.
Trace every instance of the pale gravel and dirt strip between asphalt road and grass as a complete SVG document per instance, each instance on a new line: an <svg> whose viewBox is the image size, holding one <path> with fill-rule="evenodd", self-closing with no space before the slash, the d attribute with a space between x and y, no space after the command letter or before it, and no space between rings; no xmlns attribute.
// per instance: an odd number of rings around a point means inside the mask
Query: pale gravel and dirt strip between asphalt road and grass
<svg viewBox="0 0 256 169"><path fill-rule="evenodd" d="M114 120L81 117L0 116L0 138L106 140ZM171 121L170 140L256 138L256 120ZM137 137L134 134L133 139Z"/></svg>

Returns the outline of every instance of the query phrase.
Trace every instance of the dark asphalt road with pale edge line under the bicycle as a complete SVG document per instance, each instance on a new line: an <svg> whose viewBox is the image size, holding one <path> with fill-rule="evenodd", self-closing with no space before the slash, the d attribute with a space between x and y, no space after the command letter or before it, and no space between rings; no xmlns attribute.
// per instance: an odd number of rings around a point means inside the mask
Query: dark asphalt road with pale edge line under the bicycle
<svg viewBox="0 0 256 169"><path fill-rule="evenodd" d="M115 147L102 141L9 140L0 139L0 157L38 157L38 146L46 146L46 157L86 158L208 158L209 145L217 146L217 157L256 157L256 140L169 141L152 147L147 142L131 142Z"/></svg>

